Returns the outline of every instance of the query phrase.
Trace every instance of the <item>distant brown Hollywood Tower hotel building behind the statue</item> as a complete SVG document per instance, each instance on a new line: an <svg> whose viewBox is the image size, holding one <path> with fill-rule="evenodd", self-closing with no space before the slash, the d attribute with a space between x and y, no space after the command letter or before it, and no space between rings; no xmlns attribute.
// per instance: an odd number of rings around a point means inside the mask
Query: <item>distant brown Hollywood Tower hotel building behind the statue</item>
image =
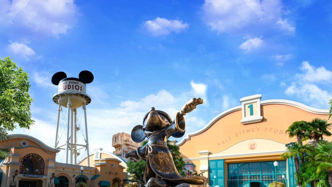
<svg viewBox="0 0 332 187"><path fill-rule="evenodd" d="M112 137L112 146L115 148L113 154L124 158L124 153L136 150L142 145L142 142L136 143L132 141L131 135L125 132L119 132Z"/></svg>

